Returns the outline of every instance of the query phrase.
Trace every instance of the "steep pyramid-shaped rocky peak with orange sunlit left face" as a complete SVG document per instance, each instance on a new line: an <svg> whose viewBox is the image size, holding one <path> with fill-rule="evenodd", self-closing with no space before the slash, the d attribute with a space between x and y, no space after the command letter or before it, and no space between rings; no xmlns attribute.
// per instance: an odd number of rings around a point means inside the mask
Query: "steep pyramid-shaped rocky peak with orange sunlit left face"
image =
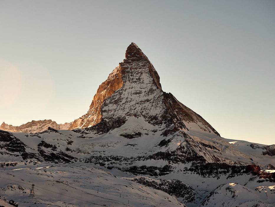
<svg viewBox="0 0 275 207"><path fill-rule="evenodd" d="M143 117L150 124L165 127L167 133L188 131L188 124L194 123L199 130L220 136L200 115L162 91L157 71L135 43L128 46L123 62L99 86L87 114L69 129L92 127L102 120L112 126L129 117Z"/></svg>

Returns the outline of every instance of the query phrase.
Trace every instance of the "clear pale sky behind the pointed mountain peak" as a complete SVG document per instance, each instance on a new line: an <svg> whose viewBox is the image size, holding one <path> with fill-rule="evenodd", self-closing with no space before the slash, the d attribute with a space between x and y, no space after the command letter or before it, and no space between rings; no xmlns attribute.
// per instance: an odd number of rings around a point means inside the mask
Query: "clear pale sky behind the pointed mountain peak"
<svg viewBox="0 0 275 207"><path fill-rule="evenodd" d="M82 116L131 42L162 89L221 136L275 144L275 1L265 0L0 0L0 122Z"/></svg>

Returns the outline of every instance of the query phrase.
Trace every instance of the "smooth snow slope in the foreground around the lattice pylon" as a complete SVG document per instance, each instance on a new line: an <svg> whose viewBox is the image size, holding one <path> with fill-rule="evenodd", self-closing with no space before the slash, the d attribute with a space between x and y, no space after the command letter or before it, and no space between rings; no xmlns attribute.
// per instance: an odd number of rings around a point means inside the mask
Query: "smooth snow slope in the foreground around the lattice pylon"
<svg viewBox="0 0 275 207"><path fill-rule="evenodd" d="M103 169L42 165L0 170L1 198L22 206L184 206L176 198ZM29 197L34 184L34 198ZM60 200L62 198L62 200ZM128 203L129 201L129 203Z"/></svg>

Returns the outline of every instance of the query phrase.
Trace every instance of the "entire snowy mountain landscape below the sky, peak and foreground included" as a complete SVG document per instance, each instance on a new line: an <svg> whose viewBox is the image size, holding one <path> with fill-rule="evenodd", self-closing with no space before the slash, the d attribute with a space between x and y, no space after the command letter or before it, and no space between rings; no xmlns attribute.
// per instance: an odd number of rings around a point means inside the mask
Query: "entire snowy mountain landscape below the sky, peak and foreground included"
<svg viewBox="0 0 275 207"><path fill-rule="evenodd" d="M275 206L275 145L222 138L162 90L135 43L85 115L64 127L51 123L37 122L36 131L1 125L1 202Z"/></svg>

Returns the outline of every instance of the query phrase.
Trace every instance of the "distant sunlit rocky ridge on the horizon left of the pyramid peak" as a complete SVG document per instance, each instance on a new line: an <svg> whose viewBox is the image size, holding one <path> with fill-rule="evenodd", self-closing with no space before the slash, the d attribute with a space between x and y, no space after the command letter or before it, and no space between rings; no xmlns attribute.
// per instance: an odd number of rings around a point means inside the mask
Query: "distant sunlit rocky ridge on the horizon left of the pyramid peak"
<svg viewBox="0 0 275 207"><path fill-rule="evenodd" d="M5 130L9 132L24 132L24 133L37 133L43 132L51 127L56 130L68 130L72 123L65 124L57 124L55 121L51 119L39 120L28 122L26 124L22 124L20 126L12 126L3 122L0 126L0 130Z"/></svg>

